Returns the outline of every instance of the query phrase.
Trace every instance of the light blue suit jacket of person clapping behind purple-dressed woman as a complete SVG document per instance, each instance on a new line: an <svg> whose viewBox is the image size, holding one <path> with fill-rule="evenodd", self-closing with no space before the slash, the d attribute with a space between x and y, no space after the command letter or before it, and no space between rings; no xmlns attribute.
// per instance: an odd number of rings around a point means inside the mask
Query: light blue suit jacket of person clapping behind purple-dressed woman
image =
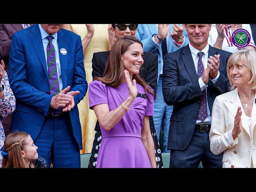
<svg viewBox="0 0 256 192"><path fill-rule="evenodd" d="M180 26L180 24L178 24L178 25ZM173 24L170 24L169 34L173 30L172 26L173 26ZM152 36L154 36L156 34L158 34L158 29L157 29L156 24L139 24L135 37L142 41L143 51L152 52L152 53L157 54L157 56L158 56L157 81L158 81L159 74L160 74L160 71L162 69L161 61L162 61L163 57L162 57L162 47L161 47L161 45L158 45L157 43L155 43L152 40ZM187 36L186 30L184 30L183 35L186 38L185 45L187 45L188 44L188 36ZM169 42L168 42L167 46L168 46L168 52L169 53L172 53L172 52L178 50L178 48L174 45L174 43L172 42L172 40L170 38L169 38Z"/></svg>

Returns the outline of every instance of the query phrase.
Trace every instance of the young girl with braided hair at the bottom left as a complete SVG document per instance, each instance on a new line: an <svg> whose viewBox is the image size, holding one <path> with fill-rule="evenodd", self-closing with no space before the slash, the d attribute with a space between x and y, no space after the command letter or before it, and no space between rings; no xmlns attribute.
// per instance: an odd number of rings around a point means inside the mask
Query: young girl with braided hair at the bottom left
<svg viewBox="0 0 256 192"><path fill-rule="evenodd" d="M10 133L1 149L2 168L47 168L46 161L38 158L37 149L29 134Z"/></svg>

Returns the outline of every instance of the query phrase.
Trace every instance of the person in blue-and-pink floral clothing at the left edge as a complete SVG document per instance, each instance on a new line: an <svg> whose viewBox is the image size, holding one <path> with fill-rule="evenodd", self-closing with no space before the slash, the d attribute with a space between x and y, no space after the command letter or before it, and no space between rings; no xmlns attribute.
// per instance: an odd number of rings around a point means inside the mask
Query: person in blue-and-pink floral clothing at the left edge
<svg viewBox="0 0 256 192"><path fill-rule="evenodd" d="M8 76L4 70L4 61L1 61L0 65L0 148L4 145L4 127L2 125L2 118L11 114L15 110L15 97L10 88ZM0 154L0 167L2 162L2 155Z"/></svg>

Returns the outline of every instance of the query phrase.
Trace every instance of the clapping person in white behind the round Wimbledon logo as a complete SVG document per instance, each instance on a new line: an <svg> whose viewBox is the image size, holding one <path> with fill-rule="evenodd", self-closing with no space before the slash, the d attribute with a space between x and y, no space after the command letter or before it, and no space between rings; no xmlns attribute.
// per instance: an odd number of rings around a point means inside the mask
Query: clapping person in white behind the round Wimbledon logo
<svg viewBox="0 0 256 192"><path fill-rule="evenodd" d="M222 49L228 52L236 52L238 47L232 43L232 33L239 28L243 28L250 33L251 41L245 49L251 49L255 51L255 44L252 37L252 30L250 24L212 24L212 30L208 38L208 43L217 49Z"/></svg>

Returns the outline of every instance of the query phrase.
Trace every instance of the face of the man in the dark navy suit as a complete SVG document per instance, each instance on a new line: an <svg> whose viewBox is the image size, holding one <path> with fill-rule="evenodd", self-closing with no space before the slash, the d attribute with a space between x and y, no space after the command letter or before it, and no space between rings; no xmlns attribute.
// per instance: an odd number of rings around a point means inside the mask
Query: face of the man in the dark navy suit
<svg viewBox="0 0 256 192"><path fill-rule="evenodd" d="M186 31L190 44L197 47L205 47L208 43L211 24L186 24Z"/></svg>

